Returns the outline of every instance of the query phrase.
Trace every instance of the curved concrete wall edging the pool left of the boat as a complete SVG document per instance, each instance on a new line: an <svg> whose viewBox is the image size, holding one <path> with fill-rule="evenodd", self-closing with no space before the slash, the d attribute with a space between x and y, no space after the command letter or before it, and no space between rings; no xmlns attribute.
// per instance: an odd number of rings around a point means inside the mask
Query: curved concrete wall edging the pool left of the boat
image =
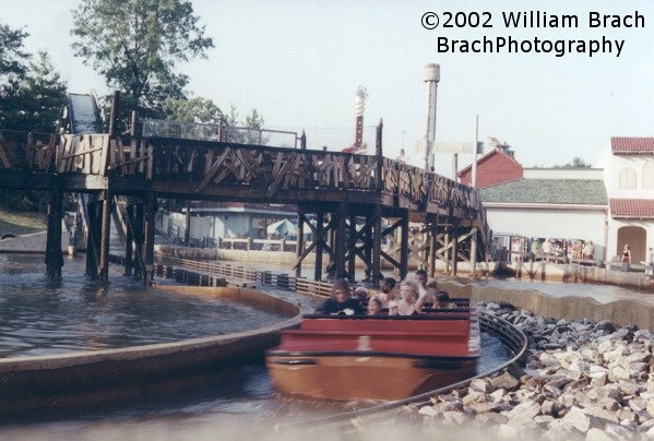
<svg viewBox="0 0 654 441"><path fill-rule="evenodd" d="M199 383L221 367L260 359L282 329L300 322L300 307L249 288L159 286L186 296L224 297L288 320L233 334L126 348L0 359L0 415L45 407L133 398Z"/></svg>

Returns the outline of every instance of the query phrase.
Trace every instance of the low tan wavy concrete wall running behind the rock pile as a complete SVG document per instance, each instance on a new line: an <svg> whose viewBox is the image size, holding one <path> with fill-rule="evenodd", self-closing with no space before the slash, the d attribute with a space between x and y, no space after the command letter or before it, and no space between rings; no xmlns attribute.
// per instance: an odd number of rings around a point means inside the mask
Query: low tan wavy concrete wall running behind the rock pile
<svg viewBox="0 0 654 441"><path fill-rule="evenodd" d="M472 305L479 301L506 301L537 315L566 320L608 320L619 326L635 324L639 329L654 330L654 303L638 298L598 302L590 297L551 297L535 289L483 287L457 282L439 282L439 287L452 297L469 298Z"/></svg>

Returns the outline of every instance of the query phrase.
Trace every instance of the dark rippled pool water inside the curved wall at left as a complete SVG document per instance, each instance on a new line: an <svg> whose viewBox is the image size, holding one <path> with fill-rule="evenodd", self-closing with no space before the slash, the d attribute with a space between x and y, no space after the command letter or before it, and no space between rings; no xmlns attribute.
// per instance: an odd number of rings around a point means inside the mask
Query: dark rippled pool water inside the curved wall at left
<svg viewBox="0 0 654 441"><path fill-rule="evenodd" d="M262 327L284 320L219 298L144 289L114 267L108 288L68 260L48 283L43 257L0 254L0 357L175 342Z"/></svg>

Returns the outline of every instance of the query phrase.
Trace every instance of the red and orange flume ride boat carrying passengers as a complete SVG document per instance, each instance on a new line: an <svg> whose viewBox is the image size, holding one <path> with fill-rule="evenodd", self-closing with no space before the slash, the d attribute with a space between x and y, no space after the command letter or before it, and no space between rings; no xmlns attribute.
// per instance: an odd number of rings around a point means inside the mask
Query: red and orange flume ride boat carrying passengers
<svg viewBox="0 0 654 441"><path fill-rule="evenodd" d="M476 374L476 311L419 315L305 314L266 354L276 391L306 398L402 400Z"/></svg>

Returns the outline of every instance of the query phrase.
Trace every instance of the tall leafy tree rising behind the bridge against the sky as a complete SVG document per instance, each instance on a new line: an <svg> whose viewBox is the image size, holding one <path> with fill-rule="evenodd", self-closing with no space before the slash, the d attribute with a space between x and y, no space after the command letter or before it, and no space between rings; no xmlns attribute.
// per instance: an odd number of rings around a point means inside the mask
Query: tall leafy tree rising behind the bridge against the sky
<svg viewBox="0 0 654 441"><path fill-rule="evenodd" d="M186 98L176 64L213 47L186 0L84 0L73 19L74 55L122 93L123 120L132 108L160 118L165 99Z"/></svg>

